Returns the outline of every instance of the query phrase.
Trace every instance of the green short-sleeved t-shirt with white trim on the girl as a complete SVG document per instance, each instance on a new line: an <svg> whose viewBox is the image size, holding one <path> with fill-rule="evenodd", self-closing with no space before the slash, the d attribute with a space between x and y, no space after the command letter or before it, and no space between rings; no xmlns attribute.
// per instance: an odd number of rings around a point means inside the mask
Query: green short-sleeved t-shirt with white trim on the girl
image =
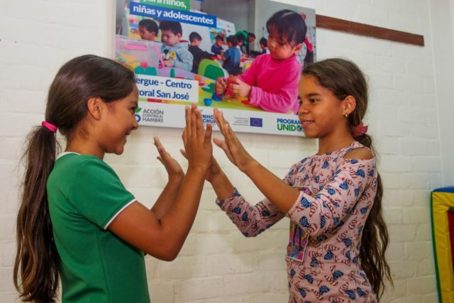
<svg viewBox="0 0 454 303"><path fill-rule="evenodd" d="M63 302L150 302L143 251L106 230L135 202L103 160L68 153L48 183Z"/></svg>

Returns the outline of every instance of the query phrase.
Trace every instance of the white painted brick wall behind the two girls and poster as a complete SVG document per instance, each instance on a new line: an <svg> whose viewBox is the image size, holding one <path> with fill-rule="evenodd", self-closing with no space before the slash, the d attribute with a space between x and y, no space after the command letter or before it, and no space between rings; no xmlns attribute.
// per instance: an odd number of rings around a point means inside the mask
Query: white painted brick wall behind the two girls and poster
<svg viewBox="0 0 454 303"><path fill-rule="evenodd" d="M0 10L0 298L17 299L12 282L14 221L23 167L23 138L43 120L45 95L57 68L76 55L111 56L114 1L4 0ZM428 0L283 1L316 13L424 35L425 47L319 28L317 57L348 57L370 80L366 123L375 136L385 187L384 215L394 277L383 302L436 302L429 193L441 185L436 86ZM438 102L443 100L438 100ZM160 194L165 173L153 136L186 167L181 132L140 128L121 156L106 157L126 186L147 206ZM215 133L218 136L218 133ZM293 162L316 152L317 142L284 136L240 134L240 139L279 177ZM219 150L221 166L240 192L261 194ZM257 238L243 237L214 204L206 184L199 214L182 252L172 263L145 259L154 302L287 302L284 263L289 222Z"/></svg>

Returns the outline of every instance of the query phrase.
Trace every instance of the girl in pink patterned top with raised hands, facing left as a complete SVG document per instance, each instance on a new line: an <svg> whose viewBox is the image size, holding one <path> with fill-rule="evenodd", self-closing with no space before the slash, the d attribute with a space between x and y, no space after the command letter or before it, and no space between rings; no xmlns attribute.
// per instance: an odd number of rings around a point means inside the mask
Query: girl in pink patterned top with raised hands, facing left
<svg viewBox="0 0 454 303"><path fill-rule="evenodd" d="M245 201L216 161L206 179L216 203L245 236L257 236L284 216L289 302L377 302L390 281L384 259L388 233L382 217L382 184L372 141L362 126L367 84L350 61L328 59L306 67L299 83L299 119L319 152L292 166L284 180L243 148L215 109L225 141L214 142L265 194Z"/></svg>

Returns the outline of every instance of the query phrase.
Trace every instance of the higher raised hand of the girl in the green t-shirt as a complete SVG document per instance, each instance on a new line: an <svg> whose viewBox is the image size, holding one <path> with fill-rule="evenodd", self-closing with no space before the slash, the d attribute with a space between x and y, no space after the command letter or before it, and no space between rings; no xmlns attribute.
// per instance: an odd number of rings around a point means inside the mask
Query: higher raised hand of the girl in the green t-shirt
<svg viewBox="0 0 454 303"><path fill-rule="evenodd" d="M213 145L211 145L211 123L204 124L201 121L201 113L196 104L186 107L186 128L183 131L184 150L189 162L189 168L208 170L213 157Z"/></svg>

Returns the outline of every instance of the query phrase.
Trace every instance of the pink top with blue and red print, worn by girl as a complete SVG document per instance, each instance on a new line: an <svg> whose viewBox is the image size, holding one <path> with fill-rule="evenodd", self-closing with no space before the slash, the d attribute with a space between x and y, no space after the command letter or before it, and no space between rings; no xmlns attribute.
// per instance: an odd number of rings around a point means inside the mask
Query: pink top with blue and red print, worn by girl
<svg viewBox="0 0 454 303"><path fill-rule="evenodd" d="M284 178L301 193L287 214L269 200L250 205L237 190L216 204L244 236L290 219L287 246L289 302L377 302L359 262L362 229L377 193L375 158L345 159L356 148L312 155Z"/></svg>

